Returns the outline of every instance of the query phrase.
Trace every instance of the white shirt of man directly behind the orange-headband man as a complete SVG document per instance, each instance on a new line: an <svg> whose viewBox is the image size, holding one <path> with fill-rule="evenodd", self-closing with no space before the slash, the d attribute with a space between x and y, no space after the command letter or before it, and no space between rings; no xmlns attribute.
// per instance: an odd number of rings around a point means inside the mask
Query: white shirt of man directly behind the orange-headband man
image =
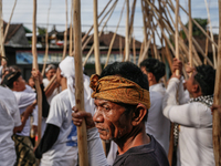
<svg viewBox="0 0 221 166"><path fill-rule="evenodd" d="M150 86L151 87L151 86ZM146 122L146 133L152 135L168 154L170 121L162 114L164 95L157 91L150 91L150 108Z"/></svg>

